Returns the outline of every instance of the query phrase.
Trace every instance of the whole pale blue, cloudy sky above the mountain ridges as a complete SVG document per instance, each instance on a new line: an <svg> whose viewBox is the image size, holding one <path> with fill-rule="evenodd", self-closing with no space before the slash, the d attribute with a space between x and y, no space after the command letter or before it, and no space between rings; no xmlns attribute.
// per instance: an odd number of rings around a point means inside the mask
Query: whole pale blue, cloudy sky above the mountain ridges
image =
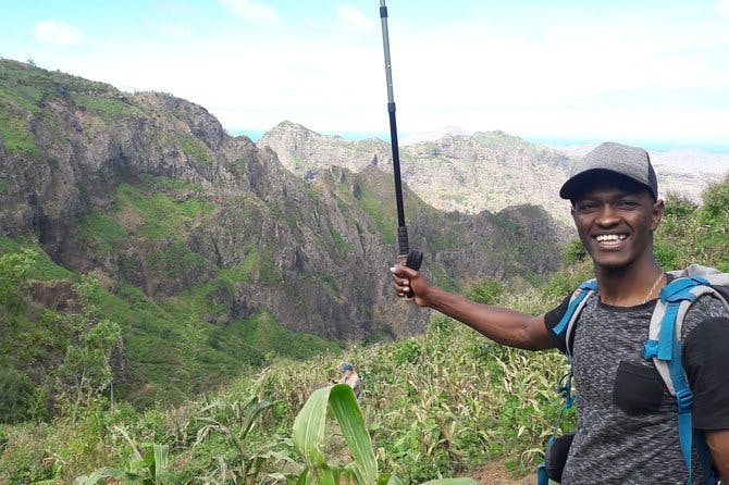
<svg viewBox="0 0 729 485"><path fill-rule="evenodd" d="M446 126L729 152L729 0L391 0L400 139ZM205 107L387 137L374 0L1 0L0 57Z"/></svg>

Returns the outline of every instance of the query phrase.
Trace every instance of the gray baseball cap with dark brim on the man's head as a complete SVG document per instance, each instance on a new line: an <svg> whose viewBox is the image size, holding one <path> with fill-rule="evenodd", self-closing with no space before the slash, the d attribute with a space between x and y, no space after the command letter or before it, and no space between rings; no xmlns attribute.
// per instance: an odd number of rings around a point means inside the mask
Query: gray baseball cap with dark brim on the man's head
<svg viewBox="0 0 729 485"><path fill-rule="evenodd" d="M658 200L658 182L647 151L613 141L598 145L572 165L569 178L559 189L559 197L572 199L580 192L580 186L590 177L600 175L600 172L611 172L635 181Z"/></svg>

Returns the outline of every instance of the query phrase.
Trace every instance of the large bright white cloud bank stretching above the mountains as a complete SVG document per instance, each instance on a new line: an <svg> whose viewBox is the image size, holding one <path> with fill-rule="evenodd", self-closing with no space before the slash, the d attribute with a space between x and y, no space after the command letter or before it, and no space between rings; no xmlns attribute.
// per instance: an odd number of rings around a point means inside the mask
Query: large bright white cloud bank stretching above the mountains
<svg viewBox="0 0 729 485"><path fill-rule="evenodd" d="M265 42L211 40L185 45L181 52L161 46L135 51L132 59L119 46L118 55L104 52L116 59L113 66L84 57L63 69L123 89L172 91L206 107L231 129L291 120L321 133L385 133L382 43L372 33L379 25L373 20L361 41L354 38L356 26L364 28L366 22L356 9L331 14L336 25L329 17L334 28L321 36L312 29ZM398 128L403 136L450 124L534 137L726 140L726 103L713 100L726 99L729 87L729 66L720 57L729 30L717 20L701 30L688 24L650 32L633 24L619 32L545 25L530 35L469 25L394 29ZM89 71L91 64L96 71Z"/></svg>

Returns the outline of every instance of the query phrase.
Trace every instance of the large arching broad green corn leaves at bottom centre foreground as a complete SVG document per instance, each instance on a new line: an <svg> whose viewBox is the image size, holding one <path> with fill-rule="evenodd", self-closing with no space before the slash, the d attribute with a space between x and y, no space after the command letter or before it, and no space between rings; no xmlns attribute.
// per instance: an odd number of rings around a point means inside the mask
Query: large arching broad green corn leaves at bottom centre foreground
<svg viewBox="0 0 729 485"><path fill-rule="evenodd" d="M354 460L345 467L331 464L324 455L328 411L339 424ZM294 445L304 456L305 469L298 475L287 475L291 485L396 485L399 480L379 473L372 440L351 387L336 384L314 390L294 421ZM473 485L471 478L446 478L428 482L438 485Z"/></svg>

